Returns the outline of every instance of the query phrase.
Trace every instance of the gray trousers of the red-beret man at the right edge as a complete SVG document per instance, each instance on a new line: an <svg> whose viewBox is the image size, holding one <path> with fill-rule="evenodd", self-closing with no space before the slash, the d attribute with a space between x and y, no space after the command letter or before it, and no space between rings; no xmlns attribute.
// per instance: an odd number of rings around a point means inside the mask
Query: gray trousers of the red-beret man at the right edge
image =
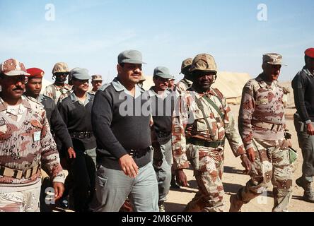
<svg viewBox="0 0 314 226"><path fill-rule="evenodd" d="M298 145L302 150L302 178L305 182L313 182L314 176L314 136L306 132L306 124L294 119L294 126L298 134Z"/></svg>

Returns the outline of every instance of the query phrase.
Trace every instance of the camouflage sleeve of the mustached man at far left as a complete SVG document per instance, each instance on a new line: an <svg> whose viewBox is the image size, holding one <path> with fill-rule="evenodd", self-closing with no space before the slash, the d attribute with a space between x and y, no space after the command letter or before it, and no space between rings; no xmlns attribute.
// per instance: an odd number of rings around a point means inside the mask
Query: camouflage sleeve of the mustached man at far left
<svg viewBox="0 0 314 226"><path fill-rule="evenodd" d="M59 153L56 143L50 133L50 126L46 117L46 112L42 109L42 131L40 134L41 162L43 167L47 169L47 174L52 178L52 182L64 183L65 174L60 165Z"/></svg>

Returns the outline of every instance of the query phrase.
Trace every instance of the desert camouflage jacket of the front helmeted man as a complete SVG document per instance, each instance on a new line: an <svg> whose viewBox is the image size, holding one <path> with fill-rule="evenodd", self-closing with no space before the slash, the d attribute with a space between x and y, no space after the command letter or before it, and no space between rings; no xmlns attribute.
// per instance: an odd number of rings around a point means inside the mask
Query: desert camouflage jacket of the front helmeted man
<svg viewBox="0 0 314 226"><path fill-rule="evenodd" d="M204 99L207 95L219 107L221 114ZM200 100L204 107L207 119L204 119L201 109L199 109L195 98ZM208 120L212 135L207 127L205 120ZM194 88L182 93L176 104L173 113L173 157L176 169L188 168L187 162L187 139L201 141L223 141L228 139L233 154L238 156L245 153L240 135L236 129L235 120L231 114L231 109L219 90L212 89L208 93L197 93ZM218 147L223 150L223 145Z"/></svg>

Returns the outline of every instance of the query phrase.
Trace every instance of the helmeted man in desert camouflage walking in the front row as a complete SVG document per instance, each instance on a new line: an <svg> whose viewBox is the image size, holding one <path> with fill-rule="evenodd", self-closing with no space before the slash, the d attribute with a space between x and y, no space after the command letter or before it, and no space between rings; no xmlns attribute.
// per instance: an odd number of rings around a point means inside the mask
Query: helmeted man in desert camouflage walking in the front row
<svg viewBox="0 0 314 226"><path fill-rule="evenodd" d="M216 63L209 54L199 54L192 67L193 85L182 93L173 113L173 154L177 182L187 186L182 169L192 163L199 191L186 211L223 211L223 149L228 139L233 154L241 155L250 170L250 161L236 130L226 97L211 88L216 79Z"/></svg>

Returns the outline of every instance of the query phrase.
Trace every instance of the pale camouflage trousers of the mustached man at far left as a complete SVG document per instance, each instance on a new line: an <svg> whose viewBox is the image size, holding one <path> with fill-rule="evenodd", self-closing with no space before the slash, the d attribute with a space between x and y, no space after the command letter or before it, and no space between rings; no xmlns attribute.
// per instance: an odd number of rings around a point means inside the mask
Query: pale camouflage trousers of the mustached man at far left
<svg viewBox="0 0 314 226"><path fill-rule="evenodd" d="M40 187L0 193L0 212L40 212Z"/></svg>

